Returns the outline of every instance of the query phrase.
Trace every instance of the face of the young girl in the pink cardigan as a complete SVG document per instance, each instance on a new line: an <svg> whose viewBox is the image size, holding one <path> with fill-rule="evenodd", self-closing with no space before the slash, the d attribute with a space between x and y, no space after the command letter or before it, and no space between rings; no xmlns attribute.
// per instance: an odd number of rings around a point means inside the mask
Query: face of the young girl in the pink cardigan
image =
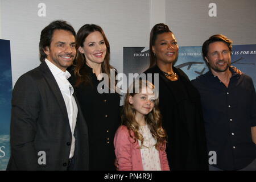
<svg viewBox="0 0 256 182"><path fill-rule="evenodd" d="M129 103L136 110L136 115L147 115L152 111L155 104L155 94L150 88L142 88L141 93L129 96Z"/></svg>

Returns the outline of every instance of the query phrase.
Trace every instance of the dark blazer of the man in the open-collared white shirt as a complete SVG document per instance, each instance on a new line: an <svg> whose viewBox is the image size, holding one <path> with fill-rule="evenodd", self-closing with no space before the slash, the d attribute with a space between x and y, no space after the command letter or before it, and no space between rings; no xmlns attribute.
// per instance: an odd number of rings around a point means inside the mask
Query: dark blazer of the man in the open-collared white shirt
<svg viewBox="0 0 256 182"><path fill-rule="evenodd" d="M75 94L73 95L76 99ZM77 102L75 169L88 169L88 129ZM59 86L43 61L22 75L13 89L11 157L7 170L67 170L72 133ZM46 164L39 165L39 151Z"/></svg>

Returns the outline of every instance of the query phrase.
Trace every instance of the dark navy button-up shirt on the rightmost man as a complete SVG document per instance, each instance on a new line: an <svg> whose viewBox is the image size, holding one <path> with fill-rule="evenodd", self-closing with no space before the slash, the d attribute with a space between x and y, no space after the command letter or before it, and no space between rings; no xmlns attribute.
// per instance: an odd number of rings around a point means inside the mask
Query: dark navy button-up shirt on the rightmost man
<svg viewBox="0 0 256 182"><path fill-rule="evenodd" d="M212 72L192 80L201 94L208 151L216 151L217 168L237 170L256 158L251 127L256 126L253 81L233 69L228 88Z"/></svg>

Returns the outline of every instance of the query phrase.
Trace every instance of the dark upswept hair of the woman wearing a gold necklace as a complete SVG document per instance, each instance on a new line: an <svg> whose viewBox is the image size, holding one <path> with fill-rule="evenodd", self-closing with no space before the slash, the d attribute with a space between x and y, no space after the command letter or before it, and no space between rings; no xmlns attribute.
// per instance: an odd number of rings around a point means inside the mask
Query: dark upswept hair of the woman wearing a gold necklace
<svg viewBox="0 0 256 182"><path fill-rule="evenodd" d="M155 40L159 34L163 34L164 32L171 32L169 27L164 23L155 24L155 26L150 31L150 68L154 67L156 64L156 57L152 50L152 46L155 46Z"/></svg>

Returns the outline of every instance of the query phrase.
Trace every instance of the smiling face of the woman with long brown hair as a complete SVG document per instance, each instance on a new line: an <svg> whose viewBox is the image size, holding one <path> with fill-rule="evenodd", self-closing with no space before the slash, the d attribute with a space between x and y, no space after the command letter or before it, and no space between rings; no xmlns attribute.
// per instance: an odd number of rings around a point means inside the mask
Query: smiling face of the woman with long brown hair
<svg viewBox="0 0 256 182"><path fill-rule="evenodd" d="M84 53L86 63L89 65L101 64L106 56L106 44L101 32L90 33L84 41L84 47L79 47L79 51Z"/></svg>

